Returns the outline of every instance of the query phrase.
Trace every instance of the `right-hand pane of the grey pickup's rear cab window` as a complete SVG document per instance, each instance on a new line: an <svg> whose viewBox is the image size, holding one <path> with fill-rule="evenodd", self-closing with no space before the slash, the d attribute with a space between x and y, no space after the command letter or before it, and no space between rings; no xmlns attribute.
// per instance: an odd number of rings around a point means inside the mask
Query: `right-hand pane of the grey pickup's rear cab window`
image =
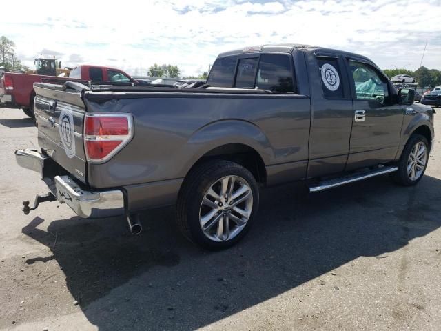
<svg viewBox="0 0 441 331"><path fill-rule="evenodd" d="M262 54L257 70L256 88L272 92L294 92L292 77L289 57Z"/></svg>

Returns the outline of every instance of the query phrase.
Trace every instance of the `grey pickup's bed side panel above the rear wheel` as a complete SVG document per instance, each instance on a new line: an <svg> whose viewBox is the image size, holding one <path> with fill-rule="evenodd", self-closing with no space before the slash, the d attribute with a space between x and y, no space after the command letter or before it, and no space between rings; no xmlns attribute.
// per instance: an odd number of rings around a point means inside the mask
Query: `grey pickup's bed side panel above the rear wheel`
<svg viewBox="0 0 441 331"><path fill-rule="evenodd" d="M98 103L85 94L88 112L134 115L132 141L107 163L88 164L88 182L96 188L181 179L206 152L229 143L254 148L266 166L291 163L296 170L281 177L278 171L278 181L305 177L306 96L150 93L118 98Z"/></svg>

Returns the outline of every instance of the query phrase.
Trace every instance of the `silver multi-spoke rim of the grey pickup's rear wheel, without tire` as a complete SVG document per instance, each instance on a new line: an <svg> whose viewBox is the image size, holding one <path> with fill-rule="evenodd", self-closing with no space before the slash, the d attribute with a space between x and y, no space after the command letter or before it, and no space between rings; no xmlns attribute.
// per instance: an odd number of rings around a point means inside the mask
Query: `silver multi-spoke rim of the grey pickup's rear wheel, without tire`
<svg viewBox="0 0 441 331"><path fill-rule="evenodd" d="M252 209L253 193L245 179L220 178L204 194L199 209L202 232L212 241L233 239L247 225Z"/></svg>

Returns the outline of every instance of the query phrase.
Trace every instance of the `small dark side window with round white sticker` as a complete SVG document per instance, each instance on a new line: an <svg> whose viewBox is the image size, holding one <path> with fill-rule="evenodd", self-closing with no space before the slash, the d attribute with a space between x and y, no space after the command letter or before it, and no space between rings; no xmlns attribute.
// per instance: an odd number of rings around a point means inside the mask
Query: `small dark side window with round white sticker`
<svg viewBox="0 0 441 331"><path fill-rule="evenodd" d="M342 75L338 66L338 59L318 58L317 61L323 96L326 99L343 99Z"/></svg>

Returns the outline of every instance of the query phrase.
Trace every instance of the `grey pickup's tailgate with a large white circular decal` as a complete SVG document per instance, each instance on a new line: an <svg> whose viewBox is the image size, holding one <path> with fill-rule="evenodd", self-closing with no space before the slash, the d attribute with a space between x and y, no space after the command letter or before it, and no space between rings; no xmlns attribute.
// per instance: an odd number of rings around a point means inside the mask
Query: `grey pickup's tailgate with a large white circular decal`
<svg viewBox="0 0 441 331"><path fill-rule="evenodd" d="M85 183L83 122L85 106L79 92L35 83L35 121L39 146L70 174Z"/></svg>

